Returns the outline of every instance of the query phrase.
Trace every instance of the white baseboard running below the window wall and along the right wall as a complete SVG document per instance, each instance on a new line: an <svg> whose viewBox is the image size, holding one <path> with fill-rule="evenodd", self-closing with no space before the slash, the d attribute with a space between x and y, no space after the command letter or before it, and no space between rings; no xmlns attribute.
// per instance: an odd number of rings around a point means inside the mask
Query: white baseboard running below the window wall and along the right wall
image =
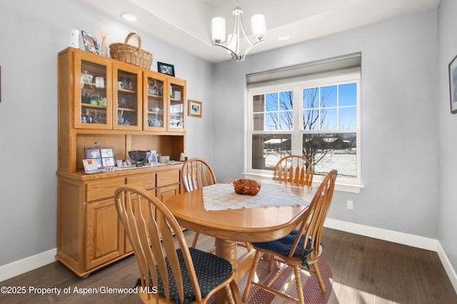
<svg viewBox="0 0 457 304"><path fill-rule="evenodd" d="M448 256L441 247L441 243L436 239L428 239L422 236L414 236L413 234L403 234L401 232L375 228L371 226L359 225L349 223L348 221L338 221L336 219L327 218L323 226L331 229L349 232L351 234L358 234L361 236L368 236L374 239L381 239L384 241L391 241L393 243L401 243L406 246L413 246L422 248L438 253L443 267L448 274L449 281L453 285L457 293L457 274L454 271Z"/></svg>

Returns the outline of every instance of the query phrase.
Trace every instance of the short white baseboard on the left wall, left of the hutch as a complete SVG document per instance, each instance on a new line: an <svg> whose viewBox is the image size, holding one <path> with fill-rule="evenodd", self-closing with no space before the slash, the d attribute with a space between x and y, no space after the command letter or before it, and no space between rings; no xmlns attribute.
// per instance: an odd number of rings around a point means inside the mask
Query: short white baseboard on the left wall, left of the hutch
<svg viewBox="0 0 457 304"><path fill-rule="evenodd" d="M0 282L57 261L55 257L56 253L57 249L54 248L49 251L38 253L34 256L29 256L28 258L23 258L19 261L14 261L0 266Z"/></svg>

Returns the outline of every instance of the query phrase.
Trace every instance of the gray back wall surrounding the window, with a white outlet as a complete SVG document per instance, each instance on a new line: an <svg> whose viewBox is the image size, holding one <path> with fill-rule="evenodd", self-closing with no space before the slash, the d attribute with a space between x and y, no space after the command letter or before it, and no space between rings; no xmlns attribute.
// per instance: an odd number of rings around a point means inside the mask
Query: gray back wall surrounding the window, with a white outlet
<svg viewBox="0 0 457 304"><path fill-rule="evenodd" d="M437 239L437 22L431 11L217 64L218 179L243 172L246 74L361 52L365 188L337 192L328 217ZM354 201L352 211L347 199Z"/></svg>

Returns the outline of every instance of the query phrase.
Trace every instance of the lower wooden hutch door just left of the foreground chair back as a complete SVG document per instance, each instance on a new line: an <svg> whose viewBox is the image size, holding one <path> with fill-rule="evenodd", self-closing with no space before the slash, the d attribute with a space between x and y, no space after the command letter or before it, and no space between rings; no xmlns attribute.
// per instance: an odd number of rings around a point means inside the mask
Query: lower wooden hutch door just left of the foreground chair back
<svg viewBox="0 0 457 304"><path fill-rule="evenodd" d="M124 253L124 227L113 199L86 205L86 270Z"/></svg>

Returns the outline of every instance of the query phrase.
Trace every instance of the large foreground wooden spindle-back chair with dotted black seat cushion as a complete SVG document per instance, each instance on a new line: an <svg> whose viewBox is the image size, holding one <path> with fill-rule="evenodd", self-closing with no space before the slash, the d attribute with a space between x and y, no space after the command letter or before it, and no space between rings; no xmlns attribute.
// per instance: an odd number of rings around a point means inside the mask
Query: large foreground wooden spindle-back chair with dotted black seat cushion
<svg viewBox="0 0 457 304"><path fill-rule="evenodd" d="M141 187L123 186L114 199L138 262L144 303L206 303L216 291L225 290L229 303L241 304L231 263L189 248L175 217L156 196Z"/></svg>

